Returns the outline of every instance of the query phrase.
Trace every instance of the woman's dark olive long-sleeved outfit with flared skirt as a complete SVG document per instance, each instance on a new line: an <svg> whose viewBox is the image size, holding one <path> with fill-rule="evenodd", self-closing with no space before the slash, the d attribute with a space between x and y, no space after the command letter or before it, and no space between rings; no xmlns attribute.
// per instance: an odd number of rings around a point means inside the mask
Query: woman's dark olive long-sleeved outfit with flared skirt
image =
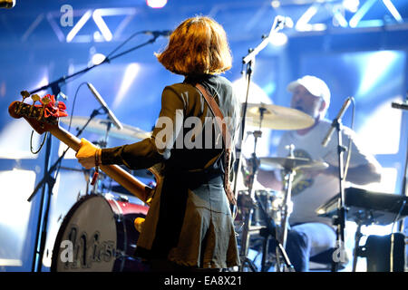
<svg viewBox="0 0 408 290"><path fill-rule="evenodd" d="M238 266L237 240L223 184L222 139L215 126L207 127L213 115L194 86L197 82L216 99L224 117L230 118L228 128L234 135L239 103L231 83L218 75L189 76L164 88L160 119L151 138L103 149L102 164L124 164L130 169L164 165L163 181L155 190L138 240L138 256L168 259L182 266ZM163 131L168 121L177 125Z"/></svg>

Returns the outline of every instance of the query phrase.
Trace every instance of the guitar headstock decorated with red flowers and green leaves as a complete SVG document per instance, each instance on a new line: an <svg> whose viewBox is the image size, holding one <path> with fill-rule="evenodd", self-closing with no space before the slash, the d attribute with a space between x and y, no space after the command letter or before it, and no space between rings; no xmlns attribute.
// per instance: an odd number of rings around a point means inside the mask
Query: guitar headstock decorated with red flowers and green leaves
<svg viewBox="0 0 408 290"><path fill-rule="evenodd" d="M58 118L67 116L65 104L55 102L53 95L47 94L40 98L40 96L34 94L31 96L33 104L24 102L25 99L30 97L29 92L23 91L21 95L23 96L23 102L12 102L8 107L8 113L15 119L23 117L39 134L50 131L55 126L58 127Z"/></svg>

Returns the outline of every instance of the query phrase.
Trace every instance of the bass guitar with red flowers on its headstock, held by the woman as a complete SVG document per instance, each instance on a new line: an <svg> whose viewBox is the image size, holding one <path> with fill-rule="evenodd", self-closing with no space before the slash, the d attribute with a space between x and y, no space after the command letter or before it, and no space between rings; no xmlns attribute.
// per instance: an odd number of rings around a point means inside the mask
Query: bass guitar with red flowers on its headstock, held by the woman
<svg viewBox="0 0 408 290"><path fill-rule="evenodd" d="M61 128L58 124L57 117L53 115L48 115L47 117L45 117L44 112L46 112L46 106L49 107L50 104L48 103L44 105L43 103L43 105L34 105L24 102L12 102L8 108L8 112L10 116L15 119L20 119L23 117L24 120L27 121L33 127L34 131L36 131L38 134L41 135L44 132L48 131L55 138L61 140L75 152L78 151L81 146L81 140L75 137L72 133ZM53 106L53 108L55 107L56 106ZM121 167L117 165L101 165L100 169L110 178L121 184L123 188L129 190L132 195L140 198L141 201L145 203L150 203L151 197L154 193L154 189L151 189L151 187L134 178L129 172L121 169ZM157 164L149 169L154 175L158 184L162 180L160 174L161 169L161 164Z"/></svg>

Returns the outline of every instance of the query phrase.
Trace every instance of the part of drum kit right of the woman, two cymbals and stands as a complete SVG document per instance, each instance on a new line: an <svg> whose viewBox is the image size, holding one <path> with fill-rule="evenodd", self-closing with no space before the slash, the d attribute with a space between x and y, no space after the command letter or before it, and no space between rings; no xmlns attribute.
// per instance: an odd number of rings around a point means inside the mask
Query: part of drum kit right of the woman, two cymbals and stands
<svg viewBox="0 0 408 290"><path fill-rule="evenodd" d="M250 172L247 182L248 190L238 191L238 206L236 227L240 232L238 241L240 247L241 266L240 271L257 271L253 261L248 258L248 249L251 242L257 243L258 238L263 239L262 261L260 271L267 270L267 243L270 237L274 238L277 244L275 256L275 268L280 271L294 271L285 251L287 243L288 219L291 213L292 182L296 171L302 170L322 170L328 165L322 161L297 158L294 156L294 146L289 145L289 155L281 157L261 157L257 158L257 139L262 137L262 128L271 130L302 130L311 127L315 120L302 111L292 108L281 107L272 104L248 103L246 122L250 126L258 127L254 131L255 146L251 158L248 160ZM282 192L275 190L255 190L253 188L257 177L259 164L265 164L272 169L279 169L284 172L284 189ZM283 262L282 262L283 260Z"/></svg>

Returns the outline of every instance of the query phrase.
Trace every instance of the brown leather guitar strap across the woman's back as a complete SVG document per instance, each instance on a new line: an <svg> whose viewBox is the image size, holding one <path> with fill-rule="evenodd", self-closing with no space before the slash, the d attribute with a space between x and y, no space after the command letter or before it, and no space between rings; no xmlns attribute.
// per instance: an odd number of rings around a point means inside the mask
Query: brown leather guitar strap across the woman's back
<svg viewBox="0 0 408 290"><path fill-rule="evenodd" d="M224 143L224 189L227 194L229 202L233 205L237 205L237 200L235 198L234 192L231 189L231 183L229 181L229 170L231 163L231 136L229 134L227 124L224 122L224 115L219 109L219 104L215 101L214 97L209 94L209 92L201 84L196 83L196 88L199 89L199 92L204 96L207 104L209 105L209 110L216 117L216 122L219 127L219 131L222 134L222 140Z"/></svg>

